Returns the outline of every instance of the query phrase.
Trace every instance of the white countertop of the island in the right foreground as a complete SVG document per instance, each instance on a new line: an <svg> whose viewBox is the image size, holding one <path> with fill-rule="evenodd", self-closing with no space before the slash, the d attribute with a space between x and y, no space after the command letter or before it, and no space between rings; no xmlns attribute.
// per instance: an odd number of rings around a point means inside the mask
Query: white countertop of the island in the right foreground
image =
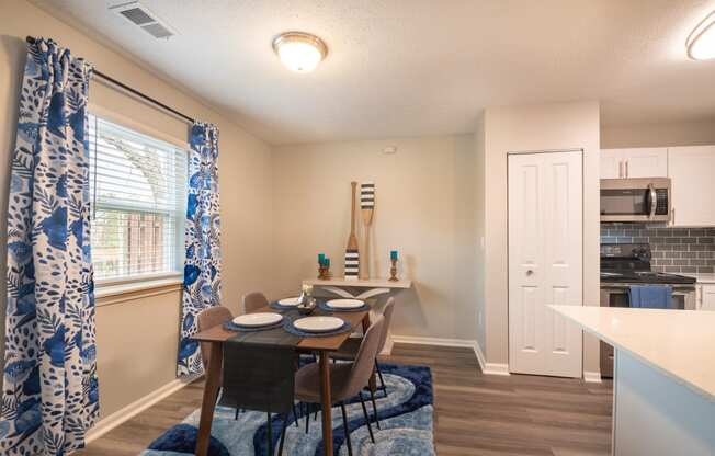
<svg viewBox="0 0 715 456"><path fill-rule="evenodd" d="M551 307L599 339L715 402L715 312Z"/></svg>

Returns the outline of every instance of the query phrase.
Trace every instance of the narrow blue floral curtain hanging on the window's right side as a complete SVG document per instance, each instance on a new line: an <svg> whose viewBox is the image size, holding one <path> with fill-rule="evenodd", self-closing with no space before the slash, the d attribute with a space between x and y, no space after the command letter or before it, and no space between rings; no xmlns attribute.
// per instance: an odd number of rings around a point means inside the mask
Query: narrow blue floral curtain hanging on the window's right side
<svg viewBox="0 0 715 456"><path fill-rule="evenodd" d="M197 332L198 314L220 304L218 129L196 123L191 128L190 144L180 376L203 373L198 343L190 337Z"/></svg>

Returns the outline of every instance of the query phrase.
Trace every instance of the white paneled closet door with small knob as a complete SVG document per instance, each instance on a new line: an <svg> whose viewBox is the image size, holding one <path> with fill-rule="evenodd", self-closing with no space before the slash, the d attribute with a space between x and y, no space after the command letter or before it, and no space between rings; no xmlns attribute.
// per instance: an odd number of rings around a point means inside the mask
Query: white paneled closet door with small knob
<svg viewBox="0 0 715 456"><path fill-rule="evenodd" d="M582 305L581 152L509 156L509 367L581 377L582 334L549 304Z"/></svg>

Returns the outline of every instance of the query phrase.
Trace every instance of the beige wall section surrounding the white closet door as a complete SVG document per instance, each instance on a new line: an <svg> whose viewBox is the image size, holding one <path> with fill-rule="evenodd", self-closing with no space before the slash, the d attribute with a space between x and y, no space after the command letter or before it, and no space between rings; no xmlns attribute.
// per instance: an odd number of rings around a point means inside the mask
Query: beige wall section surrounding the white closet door
<svg viewBox="0 0 715 456"><path fill-rule="evenodd" d="M486 358L509 361L507 153L583 149L583 295L599 305L599 104L487 109L485 128ZM585 369L598 371L598 343L585 341Z"/></svg>

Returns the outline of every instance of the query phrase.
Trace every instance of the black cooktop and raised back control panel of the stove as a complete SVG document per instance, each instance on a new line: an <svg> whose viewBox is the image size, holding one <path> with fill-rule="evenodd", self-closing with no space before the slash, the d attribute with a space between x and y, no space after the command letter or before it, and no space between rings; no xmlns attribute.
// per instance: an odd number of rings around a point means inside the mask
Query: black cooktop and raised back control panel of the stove
<svg viewBox="0 0 715 456"><path fill-rule="evenodd" d="M602 243L601 283L689 285L695 278L651 271L650 244Z"/></svg>

